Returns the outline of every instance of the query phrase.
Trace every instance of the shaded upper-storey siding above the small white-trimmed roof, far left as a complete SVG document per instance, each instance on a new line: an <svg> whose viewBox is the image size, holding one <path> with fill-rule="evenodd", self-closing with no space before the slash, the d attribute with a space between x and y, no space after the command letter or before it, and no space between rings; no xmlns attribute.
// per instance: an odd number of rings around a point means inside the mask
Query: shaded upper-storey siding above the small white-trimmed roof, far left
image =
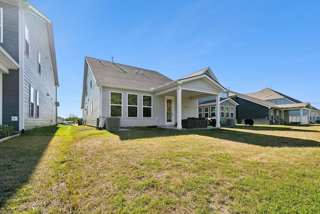
<svg viewBox="0 0 320 214"><path fill-rule="evenodd" d="M0 2L3 9L3 43L0 46L19 63L18 7Z"/></svg>

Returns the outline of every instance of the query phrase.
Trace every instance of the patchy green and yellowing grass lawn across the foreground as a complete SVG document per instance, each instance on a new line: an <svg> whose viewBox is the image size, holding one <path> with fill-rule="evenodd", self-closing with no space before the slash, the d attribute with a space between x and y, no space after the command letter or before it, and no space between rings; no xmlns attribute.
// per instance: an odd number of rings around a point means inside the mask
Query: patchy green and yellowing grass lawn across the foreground
<svg viewBox="0 0 320 214"><path fill-rule="evenodd" d="M320 126L45 127L0 143L0 213L320 213Z"/></svg>

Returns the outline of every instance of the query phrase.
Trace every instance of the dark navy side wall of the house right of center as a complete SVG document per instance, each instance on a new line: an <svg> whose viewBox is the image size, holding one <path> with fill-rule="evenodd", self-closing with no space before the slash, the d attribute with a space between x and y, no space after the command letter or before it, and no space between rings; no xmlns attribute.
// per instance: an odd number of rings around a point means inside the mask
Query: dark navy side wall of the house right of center
<svg viewBox="0 0 320 214"><path fill-rule="evenodd" d="M266 117L269 118L268 107L244 100L239 97L232 97L231 99L239 104L236 107L237 123L241 123L242 120L245 120L245 119L254 120L255 118L259 118L259 119L264 119Z"/></svg>

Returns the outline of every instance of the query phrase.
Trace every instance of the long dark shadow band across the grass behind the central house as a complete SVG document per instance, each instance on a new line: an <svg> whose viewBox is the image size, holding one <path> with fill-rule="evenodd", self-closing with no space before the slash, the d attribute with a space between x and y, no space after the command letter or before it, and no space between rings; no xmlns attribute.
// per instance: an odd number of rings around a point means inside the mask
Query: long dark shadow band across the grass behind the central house
<svg viewBox="0 0 320 214"><path fill-rule="evenodd" d="M274 131L275 130L277 129L274 129ZM214 141L214 138L218 138L264 147L320 147L320 142L315 140L249 133L237 131L236 129L174 130L156 127L135 127L129 131L113 131L112 134L118 135L121 140L197 134L212 137L212 141Z"/></svg>

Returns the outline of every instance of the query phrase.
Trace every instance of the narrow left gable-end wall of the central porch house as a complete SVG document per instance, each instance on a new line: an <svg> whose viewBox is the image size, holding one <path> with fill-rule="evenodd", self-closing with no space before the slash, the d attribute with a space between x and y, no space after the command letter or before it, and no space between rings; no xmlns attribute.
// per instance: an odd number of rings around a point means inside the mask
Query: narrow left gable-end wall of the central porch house
<svg viewBox="0 0 320 214"><path fill-rule="evenodd" d="M91 74L92 72L88 67L86 76L87 95L84 95L83 121L86 125L96 126L96 119L100 117L100 87L96 85L93 75L92 82L90 83Z"/></svg>

